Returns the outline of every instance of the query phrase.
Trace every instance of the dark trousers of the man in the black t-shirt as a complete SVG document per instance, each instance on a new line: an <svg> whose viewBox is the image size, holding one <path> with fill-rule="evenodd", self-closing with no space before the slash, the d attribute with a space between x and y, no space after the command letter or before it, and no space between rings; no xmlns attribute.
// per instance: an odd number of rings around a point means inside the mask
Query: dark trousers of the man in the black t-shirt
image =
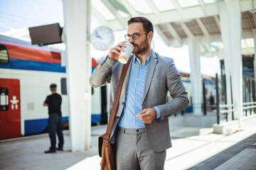
<svg viewBox="0 0 256 170"><path fill-rule="evenodd" d="M50 137L50 149L56 149L56 132L58 135L58 147L63 147L62 117L57 113L50 113L48 118L48 132Z"/></svg>

